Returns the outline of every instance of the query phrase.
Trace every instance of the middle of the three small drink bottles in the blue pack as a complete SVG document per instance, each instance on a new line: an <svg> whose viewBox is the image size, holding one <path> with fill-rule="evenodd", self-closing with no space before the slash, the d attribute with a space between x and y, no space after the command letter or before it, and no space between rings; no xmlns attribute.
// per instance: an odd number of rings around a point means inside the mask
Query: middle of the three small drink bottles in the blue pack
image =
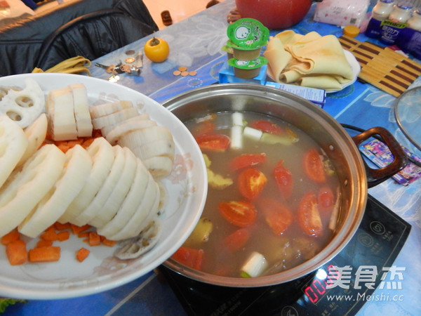
<svg viewBox="0 0 421 316"><path fill-rule="evenodd" d="M394 45L396 39L399 37L399 33L402 29L405 29L408 20L410 19L411 13L413 11L413 6L406 2L398 4L395 6L392 13L390 13L389 18L382 21L381 23L381 33L380 41L383 44Z"/></svg>

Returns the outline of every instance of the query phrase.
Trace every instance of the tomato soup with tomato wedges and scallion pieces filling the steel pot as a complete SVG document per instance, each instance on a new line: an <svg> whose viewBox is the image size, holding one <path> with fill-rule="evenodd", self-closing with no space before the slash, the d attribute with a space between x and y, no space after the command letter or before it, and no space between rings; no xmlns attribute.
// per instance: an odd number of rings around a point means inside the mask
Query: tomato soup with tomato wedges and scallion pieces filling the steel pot
<svg viewBox="0 0 421 316"><path fill-rule="evenodd" d="M274 117L223 112L185 122L208 166L208 197L176 261L257 277L315 256L340 205L335 170L306 133Z"/></svg>

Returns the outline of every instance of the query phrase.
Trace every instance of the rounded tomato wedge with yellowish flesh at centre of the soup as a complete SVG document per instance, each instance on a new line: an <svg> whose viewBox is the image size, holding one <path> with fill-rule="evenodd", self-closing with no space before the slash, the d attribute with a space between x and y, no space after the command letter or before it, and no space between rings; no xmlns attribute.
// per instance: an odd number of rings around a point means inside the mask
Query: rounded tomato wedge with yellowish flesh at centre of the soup
<svg viewBox="0 0 421 316"><path fill-rule="evenodd" d="M241 195L250 201L260 195L267 183L265 174L255 168L241 171L238 180Z"/></svg>

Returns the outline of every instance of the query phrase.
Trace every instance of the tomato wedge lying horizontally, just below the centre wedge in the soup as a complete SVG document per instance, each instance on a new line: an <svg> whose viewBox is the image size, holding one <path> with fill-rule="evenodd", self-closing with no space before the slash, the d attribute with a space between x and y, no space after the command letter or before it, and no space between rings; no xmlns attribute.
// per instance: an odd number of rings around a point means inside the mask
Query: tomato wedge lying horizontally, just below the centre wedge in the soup
<svg viewBox="0 0 421 316"><path fill-rule="evenodd" d="M223 218L239 227L250 226L258 215L255 206L245 201L220 202L218 209Z"/></svg>

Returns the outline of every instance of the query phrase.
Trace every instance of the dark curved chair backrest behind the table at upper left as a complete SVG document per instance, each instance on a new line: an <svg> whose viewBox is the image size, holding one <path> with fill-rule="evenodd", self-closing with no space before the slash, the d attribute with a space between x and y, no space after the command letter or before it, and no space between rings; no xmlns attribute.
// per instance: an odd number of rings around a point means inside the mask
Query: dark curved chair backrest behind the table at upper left
<svg viewBox="0 0 421 316"><path fill-rule="evenodd" d="M116 9L88 13L67 22L47 37L36 67L47 70L77 55L93 60L155 30Z"/></svg>

